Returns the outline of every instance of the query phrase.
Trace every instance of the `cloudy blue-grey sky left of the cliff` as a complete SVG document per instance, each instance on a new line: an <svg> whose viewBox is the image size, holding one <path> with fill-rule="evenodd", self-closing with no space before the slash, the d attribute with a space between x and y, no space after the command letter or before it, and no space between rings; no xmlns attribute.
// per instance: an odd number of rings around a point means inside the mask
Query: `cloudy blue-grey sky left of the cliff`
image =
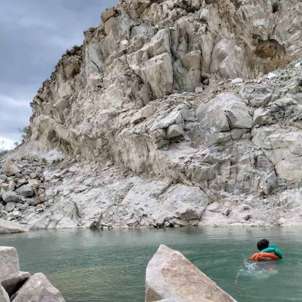
<svg viewBox="0 0 302 302"><path fill-rule="evenodd" d="M13 148L30 102L63 52L117 0L0 0L0 141ZM1 147L1 146L0 146Z"/></svg>

